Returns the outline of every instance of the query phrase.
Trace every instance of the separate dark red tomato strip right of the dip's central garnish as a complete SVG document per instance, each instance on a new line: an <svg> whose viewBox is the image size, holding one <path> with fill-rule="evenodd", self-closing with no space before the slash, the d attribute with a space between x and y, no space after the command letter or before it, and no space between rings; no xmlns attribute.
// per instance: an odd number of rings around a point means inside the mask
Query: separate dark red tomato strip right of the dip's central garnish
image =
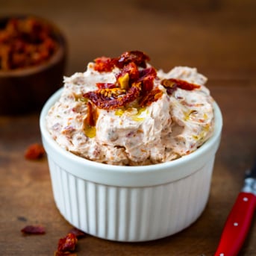
<svg viewBox="0 0 256 256"><path fill-rule="evenodd" d="M181 88L183 90L194 90L200 88L199 84L192 84L187 81L175 78L163 79L161 81L163 87L166 87L167 93L172 94L174 90Z"/></svg>

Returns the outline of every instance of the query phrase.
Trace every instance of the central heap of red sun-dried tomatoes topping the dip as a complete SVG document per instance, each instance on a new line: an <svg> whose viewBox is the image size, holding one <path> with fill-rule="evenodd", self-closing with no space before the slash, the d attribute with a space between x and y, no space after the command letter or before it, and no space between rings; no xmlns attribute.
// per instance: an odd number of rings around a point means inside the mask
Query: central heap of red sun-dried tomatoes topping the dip
<svg viewBox="0 0 256 256"><path fill-rule="evenodd" d="M142 51L126 51L120 57L113 59L107 57L96 59L96 70L111 71L117 66L120 72L116 74L115 84L96 84L99 90L85 93L84 98L105 110L125 107L135 100L146 105L155 102L160 98L161 93L153 90L157 71L153 67L146 68L148 60L149 57ZM154 93L157 95L154 96Z"/></svg>

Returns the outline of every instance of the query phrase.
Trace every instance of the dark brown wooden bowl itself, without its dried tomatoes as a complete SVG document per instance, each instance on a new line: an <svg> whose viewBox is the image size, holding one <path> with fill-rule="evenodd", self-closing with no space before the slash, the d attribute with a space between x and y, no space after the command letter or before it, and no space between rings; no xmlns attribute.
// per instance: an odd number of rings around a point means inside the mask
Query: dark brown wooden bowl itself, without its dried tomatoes
<svg viewBox="0 0 256 256"><path fill-rule="evenodd" d="M54 40L59 47L45 63L24 69L0 69L0 114L22 114L39 111L46 100L63 84L66 66L66 39L59 28L46 19L35 19L51 26ZM0 18L0 27L8 19ZM25 19L26 16L14 16Z"/></svg>

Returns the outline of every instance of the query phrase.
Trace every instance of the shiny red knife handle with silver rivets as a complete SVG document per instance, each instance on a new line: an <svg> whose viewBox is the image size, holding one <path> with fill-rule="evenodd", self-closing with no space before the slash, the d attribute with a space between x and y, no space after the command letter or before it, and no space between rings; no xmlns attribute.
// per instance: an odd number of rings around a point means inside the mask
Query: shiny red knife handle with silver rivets
<svg viewBox="0 0 256 256"><path fill-rule="evenodd" d="M215 256L235 256L241 249L249 231L256 207L253 193L240 192L228 215Z"/></svg>

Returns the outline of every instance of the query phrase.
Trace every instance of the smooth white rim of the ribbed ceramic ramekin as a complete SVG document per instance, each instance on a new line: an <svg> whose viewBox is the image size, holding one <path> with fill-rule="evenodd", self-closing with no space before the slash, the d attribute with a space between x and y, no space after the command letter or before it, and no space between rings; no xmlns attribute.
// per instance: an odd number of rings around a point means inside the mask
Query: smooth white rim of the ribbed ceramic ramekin
<svg viewBox="0 0 256 256"><path fill-rule="evenodd" d="M46 115L50 107L57 102L63 88L57 90L43 106L40 113L40 131L46 153L54 161L68 170L72 175L96 183L116 184L117 186L152 186L176 181L191 175L201 169L208 161L214 159L219 148L222 133L222 113L218 104L213 102L215 124L210 137L195 152L165 163L156 163L146 166L115 166L87 160L76 154L66 151L51 137L46 128ZM74 168L75 164L75 168ZM177 171L178 169L178 171ZM145 175L146 174L146 175Z"/></svg>

